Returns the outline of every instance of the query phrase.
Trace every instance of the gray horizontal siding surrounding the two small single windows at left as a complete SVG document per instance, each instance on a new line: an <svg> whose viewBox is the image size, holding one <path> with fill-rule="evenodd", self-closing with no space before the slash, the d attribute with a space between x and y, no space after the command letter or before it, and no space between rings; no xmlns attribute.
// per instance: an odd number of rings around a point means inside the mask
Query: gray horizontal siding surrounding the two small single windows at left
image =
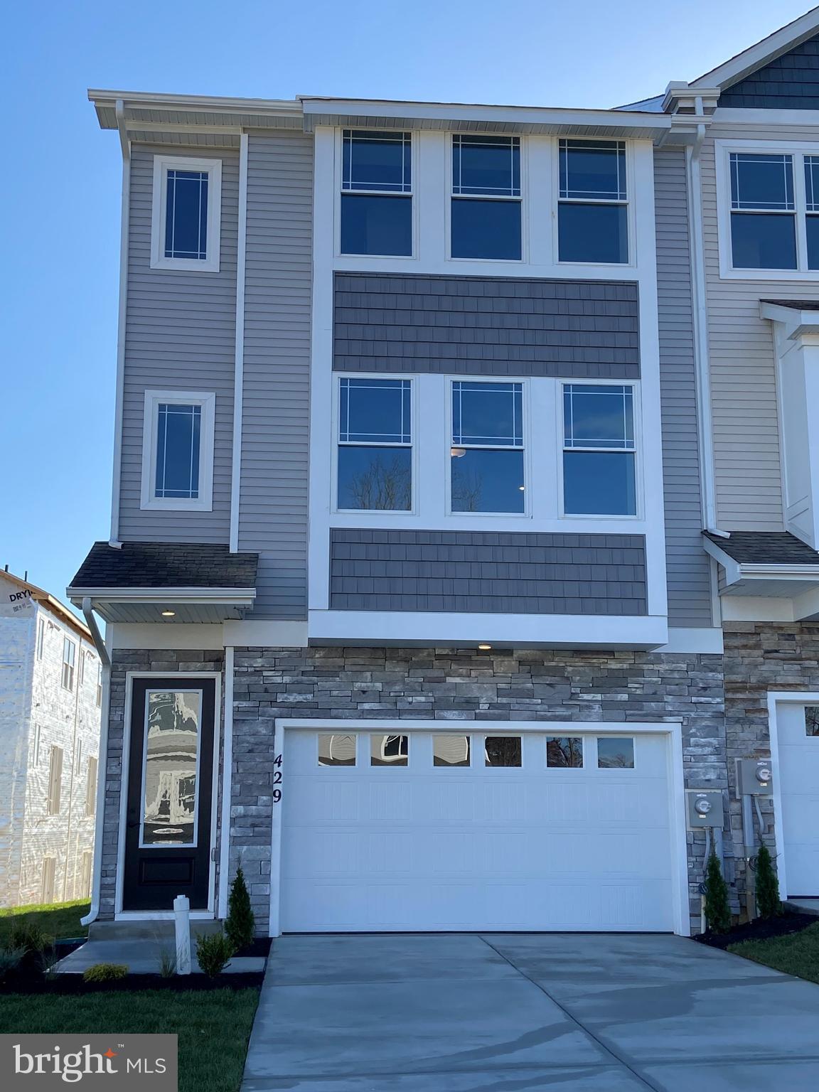
<svg viewBox="0 0 819 1092"><path fill-rule="evenodd" d="M151 269L154 155L134 144L128 240L128 308L122 404L119 533L126 541L226 543L230 524L236 239L239 161L234 151L178 149L222 161L219 272ZM213 511L140 511L145 390L216 395Z"/></svg>

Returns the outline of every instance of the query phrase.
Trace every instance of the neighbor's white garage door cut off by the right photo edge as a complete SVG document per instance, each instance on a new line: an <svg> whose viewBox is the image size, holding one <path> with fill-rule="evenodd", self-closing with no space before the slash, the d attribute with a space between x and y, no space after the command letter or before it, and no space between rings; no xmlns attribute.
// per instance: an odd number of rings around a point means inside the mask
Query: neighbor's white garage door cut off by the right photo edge
<svg viewBox="0 0 819 1092"><path fill-rule="evenodd" d="M787 894L819 895L819 707L776 705Z"/></svg>

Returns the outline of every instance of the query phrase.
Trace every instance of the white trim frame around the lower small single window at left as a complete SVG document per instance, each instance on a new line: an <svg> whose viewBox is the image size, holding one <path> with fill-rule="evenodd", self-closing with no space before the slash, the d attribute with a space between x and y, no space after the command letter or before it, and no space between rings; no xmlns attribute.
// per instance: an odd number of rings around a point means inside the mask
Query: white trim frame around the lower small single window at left
<svg viewBox="0 0 819 1092"><path fill-rule="evenodd" d="M156 439L159 404L198 405L202 408L199 451L199 497L155 497ZM142 426L142 511L213 511L213 447L216 395L213 391L145 391Z"/></svg>

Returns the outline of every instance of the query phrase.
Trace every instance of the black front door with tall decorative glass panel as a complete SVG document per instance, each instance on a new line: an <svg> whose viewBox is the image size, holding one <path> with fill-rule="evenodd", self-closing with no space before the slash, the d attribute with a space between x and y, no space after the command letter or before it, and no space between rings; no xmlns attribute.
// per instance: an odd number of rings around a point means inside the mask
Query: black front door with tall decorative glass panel
<svg viewBox="0 0 819 1092"><path fill-rule="evenodd" d="M205 910L211 871L214 678L134 678L123 910Z"/></svg>

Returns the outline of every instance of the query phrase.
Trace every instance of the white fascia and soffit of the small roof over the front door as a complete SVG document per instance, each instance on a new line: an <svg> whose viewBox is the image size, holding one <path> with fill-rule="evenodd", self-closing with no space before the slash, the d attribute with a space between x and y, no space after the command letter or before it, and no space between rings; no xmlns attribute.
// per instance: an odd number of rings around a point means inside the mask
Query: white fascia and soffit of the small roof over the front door
<svg viewBox="0 0 819 1092"><path fill-rule="evenodd" d="M69 587L67 594L79 607L91 600L106 621L169 625L244 618L256 600L252 587Z"/></svg>

